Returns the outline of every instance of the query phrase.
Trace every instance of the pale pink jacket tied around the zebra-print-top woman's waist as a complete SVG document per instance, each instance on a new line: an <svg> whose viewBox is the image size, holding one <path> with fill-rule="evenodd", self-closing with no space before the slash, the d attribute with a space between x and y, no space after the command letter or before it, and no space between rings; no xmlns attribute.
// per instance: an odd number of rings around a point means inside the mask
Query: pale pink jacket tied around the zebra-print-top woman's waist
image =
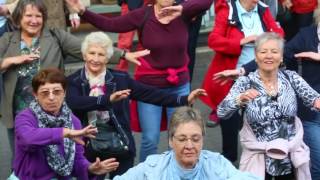
<svg viewBox="0 0 320 180"><path fill-rule="evenodd" d="M265 155L275 159L290 156L296 179L311 180L309 147L303 142L303 126L298 117L295 118L295 127L297 133L291 141L279 138L270 142L258 142L247 120L244 119L239 133L242 145L239 169L264 177ZM276 150L276 153L272 150Z"/></svg>

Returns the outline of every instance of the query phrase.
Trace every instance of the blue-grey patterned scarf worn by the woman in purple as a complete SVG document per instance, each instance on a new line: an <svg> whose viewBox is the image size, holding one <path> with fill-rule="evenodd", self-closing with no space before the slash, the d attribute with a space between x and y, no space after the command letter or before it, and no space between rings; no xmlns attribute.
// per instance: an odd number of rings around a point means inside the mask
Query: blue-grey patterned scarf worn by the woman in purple
<svg viewBox="0 0 320 180"><path fill-rule="evenodd" d="M40 128L65 127L73 129L71 111L64 102L59 116L46 113L37 101L30 103L30 108L38 119ZM59 153L58 145L52 144L45 147L45 154L51 169L60 176L69 176L73 169L75 157L75 142L69 138L63 139L64 155Z"/></svg>

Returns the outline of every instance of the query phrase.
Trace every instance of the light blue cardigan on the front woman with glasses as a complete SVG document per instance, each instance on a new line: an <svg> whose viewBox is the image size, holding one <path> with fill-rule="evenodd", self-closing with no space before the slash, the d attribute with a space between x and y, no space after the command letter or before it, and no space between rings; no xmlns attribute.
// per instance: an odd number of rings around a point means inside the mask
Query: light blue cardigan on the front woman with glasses
<svg viewBox="0 0 320 180"><path fill-rule="evenodd" d="M146 161L129 169L114 180L260 180L247 172L237 170L219 153L202 150L199 162L193 169L181 168L174 152L166 151L159 155L148 156Z"/></svg>

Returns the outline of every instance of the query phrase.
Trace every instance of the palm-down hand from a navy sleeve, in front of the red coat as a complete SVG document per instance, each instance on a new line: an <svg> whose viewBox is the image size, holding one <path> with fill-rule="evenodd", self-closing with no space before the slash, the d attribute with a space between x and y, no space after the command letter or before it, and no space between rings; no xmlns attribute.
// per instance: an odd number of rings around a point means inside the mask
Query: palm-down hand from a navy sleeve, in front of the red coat
<svg viewBox="0 0 320 180"><path fill-rule="evenodd" d="M229 81L237 79L239 75L240 71L238 69L229 69L214 74L212 79L220 85L224 85Z"/></svg>

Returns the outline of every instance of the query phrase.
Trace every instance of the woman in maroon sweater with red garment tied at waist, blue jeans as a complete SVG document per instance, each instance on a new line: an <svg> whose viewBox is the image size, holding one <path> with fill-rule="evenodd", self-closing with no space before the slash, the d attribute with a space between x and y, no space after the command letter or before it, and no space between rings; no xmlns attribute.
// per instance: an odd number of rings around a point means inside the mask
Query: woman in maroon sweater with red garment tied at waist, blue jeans
<svg viewBox="0 0 320 180"><path fill-rule="evenodd" d="M67 0L82 18L97 28L111 32L138 30L140 42L150 50L138 67L136 79L177 95L190 92L187 54L188 29L192 18L210 7L212 0L189 0L177 5L182 16L172 19L176 10L164 11L174 0L156 0L153 5L144 6L124 16L108 18L90 12L76 0ZM160 139L160 124L163 109L170 119L174 108L156 106L138 101L138 116L142 131L140 161L157 153Z"/></svg>

